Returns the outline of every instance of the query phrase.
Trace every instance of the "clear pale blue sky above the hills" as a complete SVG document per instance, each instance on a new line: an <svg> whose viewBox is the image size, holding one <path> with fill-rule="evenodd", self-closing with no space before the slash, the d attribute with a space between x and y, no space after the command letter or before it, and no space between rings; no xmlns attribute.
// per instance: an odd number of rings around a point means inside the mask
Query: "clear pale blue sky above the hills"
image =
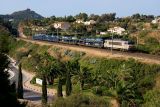
<svg viewBox="0 0 160 107"><path fill-rule="evenodd" d="M116 13L126 17L135 13L160 15L160 0L0 0L0 14L30 8L44 17Z"/></svg>

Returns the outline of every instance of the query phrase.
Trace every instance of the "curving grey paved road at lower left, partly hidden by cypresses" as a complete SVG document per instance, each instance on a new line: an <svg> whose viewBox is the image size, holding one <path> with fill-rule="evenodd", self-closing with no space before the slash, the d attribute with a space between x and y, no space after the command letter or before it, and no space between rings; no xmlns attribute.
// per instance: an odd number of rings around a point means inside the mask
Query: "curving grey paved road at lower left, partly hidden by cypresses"
<svg viewBox="0 0 160 107"><path fill-rule="evenodd" d="M9 65L11 71L14 73L14 76L11 78L11 82L16 82L16 86L18 83L18 70L17 68L11 63ZM28 77L23 74L23 83L28 79ZM24 99L35 101L35 102L40 102L41 101L41 93L29 90L24 88ZM52 96L48 96L49 102L52 101Z"/></svg>

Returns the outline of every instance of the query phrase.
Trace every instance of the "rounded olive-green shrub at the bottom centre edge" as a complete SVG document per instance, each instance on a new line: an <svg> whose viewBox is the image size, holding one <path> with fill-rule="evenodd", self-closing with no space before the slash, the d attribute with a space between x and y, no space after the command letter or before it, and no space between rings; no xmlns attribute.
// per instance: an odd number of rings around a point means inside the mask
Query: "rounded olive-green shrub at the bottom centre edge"
<svg viewBox="0 0 160 107"><path fill-rule="evenodd" d="M56 99L52 107L109 107L109 102L104 98L79 93Z"/></svg>

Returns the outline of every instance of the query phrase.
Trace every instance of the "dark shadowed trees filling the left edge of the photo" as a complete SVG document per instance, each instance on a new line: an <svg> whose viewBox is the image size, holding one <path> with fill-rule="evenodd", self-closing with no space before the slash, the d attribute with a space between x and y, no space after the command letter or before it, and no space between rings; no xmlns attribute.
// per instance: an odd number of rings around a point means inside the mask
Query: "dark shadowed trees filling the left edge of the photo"
<svg viewBox="0 0 160 107"><path fill-rule="evenodd" d="M9 59L7 53L9 52L9 36L11 33L5 26L0 23L0 106L5 107L24 107L24 104L21 104L17 100L16 95L16 85L11 83L9 80Z"/></svg>

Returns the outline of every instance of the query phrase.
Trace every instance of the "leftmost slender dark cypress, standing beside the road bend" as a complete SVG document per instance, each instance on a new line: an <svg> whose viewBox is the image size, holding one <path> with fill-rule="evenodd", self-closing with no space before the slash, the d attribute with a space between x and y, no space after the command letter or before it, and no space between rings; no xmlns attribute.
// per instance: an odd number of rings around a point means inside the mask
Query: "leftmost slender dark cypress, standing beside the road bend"
<svg viewBox="0 0 160 107"><path fill-rule="evenodd" d="M22 77L22 65L19 64L19 73L18 73L18 88L17 88L17 97L23 99L23 77Z"/></svg>

